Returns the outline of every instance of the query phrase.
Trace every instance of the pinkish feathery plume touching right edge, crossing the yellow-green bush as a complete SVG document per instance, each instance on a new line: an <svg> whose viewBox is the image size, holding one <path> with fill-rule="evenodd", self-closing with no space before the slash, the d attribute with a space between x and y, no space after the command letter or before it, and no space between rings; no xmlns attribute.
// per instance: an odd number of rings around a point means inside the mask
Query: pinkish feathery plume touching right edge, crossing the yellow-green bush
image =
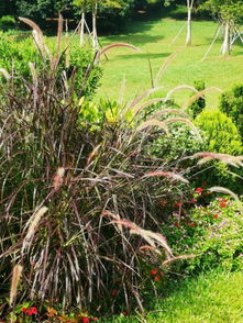
<svg viewBox="0 0 243 323"><path fill-rule="evenodd" d="M228 154L217 154L217 153L210 153L210 152L201 152L197 153L192 156L189 156L187 158L201 158L198 162L198 165L202 165L205 163L208 163L210 160L217 159L224 164L234 166L234 167L243 167L243 156L231 156Z"/></svg>

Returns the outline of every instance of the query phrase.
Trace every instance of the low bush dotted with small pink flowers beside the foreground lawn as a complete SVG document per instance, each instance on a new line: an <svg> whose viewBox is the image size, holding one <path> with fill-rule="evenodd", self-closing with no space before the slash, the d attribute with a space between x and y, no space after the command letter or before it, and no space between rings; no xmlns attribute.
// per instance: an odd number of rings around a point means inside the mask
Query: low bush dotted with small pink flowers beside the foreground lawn
<svg viewBox="0 0 243 323"><path fill-rule="evenodd" d="M189 266L184 265L179 270L243 269L243 219L242 205L238 202L214 198L207 207L198 204L190 211L184 211L179 226L169 230L169 243L177 253L195 255Z"/></svg>

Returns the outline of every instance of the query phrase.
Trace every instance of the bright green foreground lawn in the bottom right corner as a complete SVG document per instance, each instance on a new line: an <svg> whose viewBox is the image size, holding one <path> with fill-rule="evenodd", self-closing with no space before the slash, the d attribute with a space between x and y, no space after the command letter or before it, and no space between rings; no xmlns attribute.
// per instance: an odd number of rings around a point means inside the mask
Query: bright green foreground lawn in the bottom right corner
<svg viewBox="0 0 243 323"><path fill-rule="evenodd" d="M203 274L174 286L165 300L154 300L144 316L118 316L112 323L242 323L243 274ZM107 322L107 321L106 321Z"/></svg>

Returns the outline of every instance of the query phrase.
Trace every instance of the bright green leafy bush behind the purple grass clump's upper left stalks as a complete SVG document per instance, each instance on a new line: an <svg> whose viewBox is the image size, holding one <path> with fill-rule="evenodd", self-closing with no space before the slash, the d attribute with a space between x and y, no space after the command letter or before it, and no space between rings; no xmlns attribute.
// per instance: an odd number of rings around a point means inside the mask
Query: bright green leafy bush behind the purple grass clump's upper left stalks
<svg viewBox="0 0 243 323"><path fill-rule="evenodd" d="M93 65L90 71L85 76L87 67L92 64L92 52L90 49L70 46L70 49L67 49L60 57L57 67L59 73L65 73L63 76L67 78L67 81L69 81L71 77L75 78L75 82L73 81L73 83L76 92L86 99L90 99L93 96L102 75L101 68L98 65ZM69 62L67 62L67 59ZM32 38L26 37L21 42L12 42L11 37L1 33L0 66L9 73L13 71L13 81L19 83L19 86L22 83L20 78L24 78L27 81L32 78L29 66L30 62L37 68L45 68L45 62L43 62L34 47ZM84 80L84 78L87 79Z"/></svg>

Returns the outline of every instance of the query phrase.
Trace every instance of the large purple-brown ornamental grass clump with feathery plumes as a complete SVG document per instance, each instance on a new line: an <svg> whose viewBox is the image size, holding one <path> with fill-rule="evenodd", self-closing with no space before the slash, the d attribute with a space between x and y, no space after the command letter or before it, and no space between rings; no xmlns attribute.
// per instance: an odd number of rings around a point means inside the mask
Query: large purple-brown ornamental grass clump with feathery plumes
<svg viewBox="0 0 243 323"><path fill-rule="evenodd" d="M189 188L179 160L150 155L151 141L169 133L172 122L199 134L181 115L142 121L137 107L146 94L128 107L137 112L132 123L84 123L84 93L75 90L78 67L70 77L58 68L67 52L58 44L62 19L52 56L38 27L25 22L37 33L44 64L30 66L32 81L23 79L21 91L10 75L1 93L2 294L8 299L15 265L22 276L11 300L48 300L51 307L58 299L64 309L96 312L143 310L143 288L153 287L144 272L174 259L161 231L168 214L158 201L186 199ZM84 86L98 58L88 65ZM1 309L8 311L7 304Z"/></svg>

